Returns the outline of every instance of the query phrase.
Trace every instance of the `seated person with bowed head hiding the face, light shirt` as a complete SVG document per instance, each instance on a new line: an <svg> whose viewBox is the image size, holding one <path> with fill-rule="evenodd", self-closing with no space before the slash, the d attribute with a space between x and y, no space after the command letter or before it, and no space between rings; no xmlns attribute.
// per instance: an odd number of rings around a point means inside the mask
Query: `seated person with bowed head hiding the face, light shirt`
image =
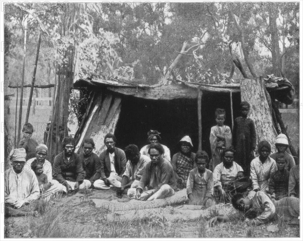
<svg viewBox="0 0 303 241"><path fill-rule="evenodd" d="M139 148L133 144L125 147L124 152L128 161L125 172L122 175L121 189L117 191L117 196L122 197L123 191L130 187L127 196L135 198L136 189L133 187L139 183L146 164L150 162L150 158L142 155L139 152Z"/></svg>

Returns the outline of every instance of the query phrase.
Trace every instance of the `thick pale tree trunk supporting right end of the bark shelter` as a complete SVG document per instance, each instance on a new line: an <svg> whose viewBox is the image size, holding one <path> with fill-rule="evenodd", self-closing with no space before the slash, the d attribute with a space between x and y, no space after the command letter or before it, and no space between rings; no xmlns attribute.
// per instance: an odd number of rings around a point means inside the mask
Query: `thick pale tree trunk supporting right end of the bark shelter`
<svg viewBox="0 0 303 241"><path fill-rule="evenodd" d="M241 101L247 101L251 106L248 117L255 122L257 144L266 140L271 144L274 152L277 132L273 125L272 110L266 98L264 80L244 79L240 83L240 91Z"/></svg>

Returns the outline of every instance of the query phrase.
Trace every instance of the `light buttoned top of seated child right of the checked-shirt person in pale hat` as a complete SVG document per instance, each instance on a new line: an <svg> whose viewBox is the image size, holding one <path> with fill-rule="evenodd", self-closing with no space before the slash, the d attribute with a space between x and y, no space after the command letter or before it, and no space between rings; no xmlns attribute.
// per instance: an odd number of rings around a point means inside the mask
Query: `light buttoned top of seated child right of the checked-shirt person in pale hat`
<svg viewBox="0 0 303 241"><path fill-rule="evenodd" d="M192 194L194 198L211 198L214 194L213 172L206 169L200 174L198 168L194 168L189 172L186 184L187 196Z"/></svg>

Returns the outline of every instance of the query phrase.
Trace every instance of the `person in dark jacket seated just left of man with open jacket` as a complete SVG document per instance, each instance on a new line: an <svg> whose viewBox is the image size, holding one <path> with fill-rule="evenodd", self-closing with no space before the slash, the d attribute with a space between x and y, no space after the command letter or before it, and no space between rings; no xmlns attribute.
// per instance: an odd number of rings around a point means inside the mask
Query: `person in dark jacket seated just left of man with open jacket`
<svg viewBox="0 0 303 241"><path fill-rule="evenodd" d="M101 163L97 154L92 150L95 148L92 138L87 138L83 141L83 151L80 154L82 166L85 171L85 180L89 180L90 187L94 187L94 182L101 176Z"/></svg>

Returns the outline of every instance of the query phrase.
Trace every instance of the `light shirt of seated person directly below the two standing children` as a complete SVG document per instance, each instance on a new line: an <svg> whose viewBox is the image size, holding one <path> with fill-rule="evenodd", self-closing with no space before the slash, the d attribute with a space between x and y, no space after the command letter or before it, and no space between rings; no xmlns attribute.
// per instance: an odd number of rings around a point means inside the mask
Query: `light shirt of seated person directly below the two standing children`
<svg viewBox="0 0 303 241"><path fill-rule="evenodd" d="M235 180L239 171L243 171L243 169L235 161L233 161L233 164L230 168L226 168L223 165L223 162L221 162L215 167L214 170L214 187L222 188L222 182L224 183L231 180Z"/></svg>

